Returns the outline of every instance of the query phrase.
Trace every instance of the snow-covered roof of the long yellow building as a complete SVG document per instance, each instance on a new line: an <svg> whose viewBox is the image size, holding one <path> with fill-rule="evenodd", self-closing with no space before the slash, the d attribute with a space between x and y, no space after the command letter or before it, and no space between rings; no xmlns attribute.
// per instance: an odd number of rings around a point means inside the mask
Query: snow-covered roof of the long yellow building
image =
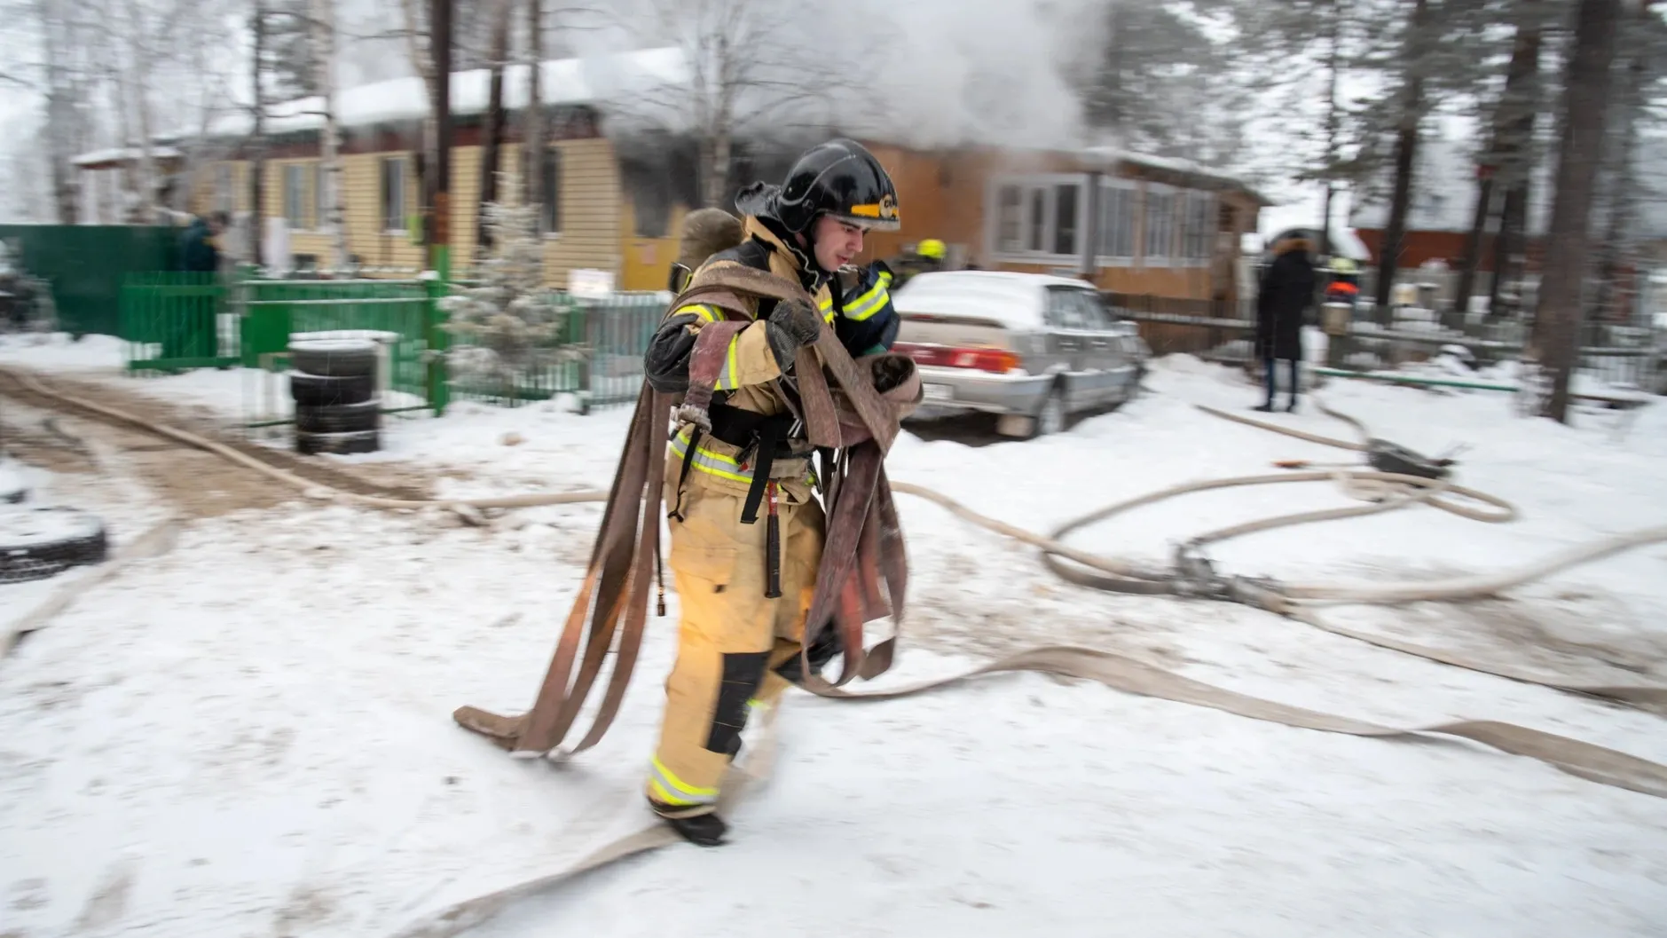
<svg viewBox="0 0 1667 938"><path fill-rule="evenodd" d="M490 100L492 72L472 68L452 73L452 113L485 113ZM645 48L587 58L553 58L538 67L538 88L547 105L607 103L640 95L667 85L688 82L683 50L677 47ZM503 70L503 107L527 107L527 65ZM343 88L335 102L342 127L372 127L420 120L428 113L428 92L418 77L390 78ZM308 97L267 108L267 133L293 133L323 127L323 98ZM240 137L253 130L247 113L227 115L213 122L210 137Z"/></svg>

